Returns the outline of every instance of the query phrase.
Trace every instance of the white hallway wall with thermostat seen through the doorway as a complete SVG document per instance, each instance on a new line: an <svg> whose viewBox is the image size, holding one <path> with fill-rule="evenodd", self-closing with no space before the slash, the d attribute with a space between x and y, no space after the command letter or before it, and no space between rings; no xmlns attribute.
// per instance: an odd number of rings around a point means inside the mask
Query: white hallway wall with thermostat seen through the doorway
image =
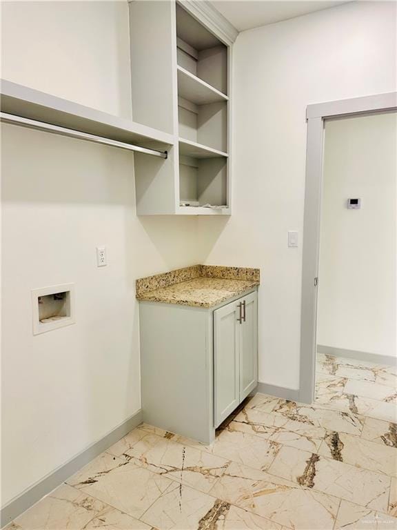
<svg viewBox="0 0 397 530"><path fill-rule="evenodd" d="M396 356L396 175L396 113L326 123L318 344Z"/></svg>

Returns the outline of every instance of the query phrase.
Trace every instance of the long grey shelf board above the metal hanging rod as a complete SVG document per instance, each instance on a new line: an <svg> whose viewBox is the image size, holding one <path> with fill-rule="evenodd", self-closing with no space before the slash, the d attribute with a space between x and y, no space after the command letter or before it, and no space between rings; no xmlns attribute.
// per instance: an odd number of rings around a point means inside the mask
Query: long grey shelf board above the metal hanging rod
<svg viewBox="0 0 397 530"><path fill-rule="evenodd" d="M27 86L1 79L1 112L45 121L82 133L144 145L157 142L173 145L174 137L161 130L86 107L74 101L46 94Z"/></svg>

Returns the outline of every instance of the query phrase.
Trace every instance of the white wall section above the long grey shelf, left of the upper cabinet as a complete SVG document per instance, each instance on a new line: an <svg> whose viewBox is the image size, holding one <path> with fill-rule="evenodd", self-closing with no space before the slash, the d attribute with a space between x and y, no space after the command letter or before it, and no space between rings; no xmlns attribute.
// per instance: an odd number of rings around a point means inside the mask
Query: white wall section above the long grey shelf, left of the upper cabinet
<svg viewBox="0 0 397 530"><path fill-rule="evenodd" d="M127 2L1 4L2 77L131 117Z"/></svg>

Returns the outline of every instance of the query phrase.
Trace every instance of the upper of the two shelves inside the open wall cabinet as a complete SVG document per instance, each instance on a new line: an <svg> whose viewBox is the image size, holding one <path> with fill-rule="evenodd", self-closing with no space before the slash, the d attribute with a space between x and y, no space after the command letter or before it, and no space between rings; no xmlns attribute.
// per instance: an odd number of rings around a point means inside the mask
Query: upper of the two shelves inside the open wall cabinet
<svg viewBox="0 0 397 530"><path fill-rule="evenodd" d="M227 101L227 95L219 92L199 77L191 74L185 68L178 66L178 95L192 101L196 105Z"/></svg>

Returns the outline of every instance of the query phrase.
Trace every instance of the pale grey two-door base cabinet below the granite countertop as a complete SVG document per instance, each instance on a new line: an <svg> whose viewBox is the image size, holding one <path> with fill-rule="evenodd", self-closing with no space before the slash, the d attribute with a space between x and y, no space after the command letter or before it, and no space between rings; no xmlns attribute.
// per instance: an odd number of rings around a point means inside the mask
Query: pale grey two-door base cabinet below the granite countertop
<svg viewBox="0 0 397 530"><path fill-rule="evenodd" d="M139 303L144 422L214 440L257 384L256 308L256 288L214 308Z"/></svg>

